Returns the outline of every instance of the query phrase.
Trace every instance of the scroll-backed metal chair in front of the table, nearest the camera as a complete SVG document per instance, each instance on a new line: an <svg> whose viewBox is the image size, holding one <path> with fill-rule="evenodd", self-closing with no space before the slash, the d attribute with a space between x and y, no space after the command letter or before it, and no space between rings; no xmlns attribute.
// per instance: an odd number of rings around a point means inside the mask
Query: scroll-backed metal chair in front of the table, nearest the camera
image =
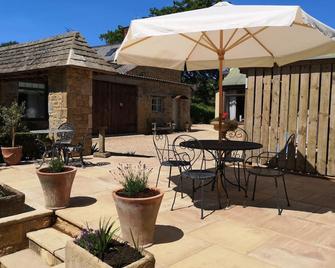
<svg viewBox="0 0 335 268"><path fill-rule="evenodd" d="M180 143L192 141L197 143L197 149L192 149L188 147L183 147ZM204 187L208 185L207 182L211 183L216 178L216 173L206 170L203 165L204 150L202 149L201 143L196 140L194 137L189 135L180 135L176 137L173 141L172 148L175 154L176 159L179 161L188 162L189 165L180 166L180 189L181 197L183 198L183 179L192 180L192 201L194 201L195 192L201 190L201 219L204 218ZM199 149L200 148L200 149ZM195 183L198 183L199 186L195 187ZM205 185L205 183L207 183ZM175 192L171 210L174 208L176 201L177 191ZM218 196L219 206L220 199Z"/></svg>

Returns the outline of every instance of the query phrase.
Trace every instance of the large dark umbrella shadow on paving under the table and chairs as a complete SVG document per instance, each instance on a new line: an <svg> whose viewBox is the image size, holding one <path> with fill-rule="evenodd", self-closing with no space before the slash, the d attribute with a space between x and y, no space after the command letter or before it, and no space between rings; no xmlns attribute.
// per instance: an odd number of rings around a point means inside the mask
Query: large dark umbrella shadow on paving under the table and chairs
<svg viewBox="0 0 335 268"><path fill-rule="evenodd" d="M236 179L233 173L233 168L226 168L227 178L236 183ZM181 201L181 184L180 177L172 176L171 181L175 184L172 188L173 191L177 191L176 201L174 205L174 210L187 209L189 206L185 206L185 201ZM166 180L168 183L168 180ZM310 213L327 213L335 212L334 193L335 193L335 182L330 179L325 178L315 178L300 175L286 175L287 191L291 205L288 207L285 200L285 193L282 184L282 180L278 180L279 183L279 194L280 194L280 204L283 208L283 214L285 210L292 211L303 211ZM241 184L244 185L244 177L241 177ZM173 185L173 184L171 184ZM219 208L217 191L212 191L212 183L209 183L204 187L204 210L207 210L206 217L213 213ZM197 186L197 184L196 184ZM244 195L244 191L238 191L238 188L227 183L227 191L230 199L230 205L248 207L259 207L259 208L270 208L277 209L276 202L276 188L273 178L259 177L257 181L257 188L255 193L255 200L251 200L252 191L254 186L254 177L250 176L248 197ZM185 195L192 197L192 180L184 178L182 192ZM225 207L227 204L227 199L225 193L222 191L221 195L221 205ZM194 201L192 203L189 200L190 206L201 208L201 191L197 190L195 192ZM208 212L211 211L211 212Z"/></svg>

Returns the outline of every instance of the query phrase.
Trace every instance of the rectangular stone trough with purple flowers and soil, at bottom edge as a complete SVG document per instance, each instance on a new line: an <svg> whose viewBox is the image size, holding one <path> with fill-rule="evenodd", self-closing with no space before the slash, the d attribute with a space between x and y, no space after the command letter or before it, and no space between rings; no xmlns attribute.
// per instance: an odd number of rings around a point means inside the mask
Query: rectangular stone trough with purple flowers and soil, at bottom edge
<svg viewBox="0 0 335 268"><path fill-rule="evenodd" d="M65 248L66 267L154 267L153 255L143 250L135 239L133 247L121 241L114 226L115 222L100 220L97 230L87 226L74 241L69 241Z"/></svg>

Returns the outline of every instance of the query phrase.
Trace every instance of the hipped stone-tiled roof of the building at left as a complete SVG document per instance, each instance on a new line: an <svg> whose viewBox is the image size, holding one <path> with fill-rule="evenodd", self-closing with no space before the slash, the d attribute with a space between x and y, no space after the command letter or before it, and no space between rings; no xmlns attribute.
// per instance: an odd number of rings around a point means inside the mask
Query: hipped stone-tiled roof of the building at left
<svg viewBox="0 0 335 268"><path fill-rule="evenodd" d="M0 73L13 73L58 66L78 66L115 72L78 32L34 42L0 47Z"/></svg>

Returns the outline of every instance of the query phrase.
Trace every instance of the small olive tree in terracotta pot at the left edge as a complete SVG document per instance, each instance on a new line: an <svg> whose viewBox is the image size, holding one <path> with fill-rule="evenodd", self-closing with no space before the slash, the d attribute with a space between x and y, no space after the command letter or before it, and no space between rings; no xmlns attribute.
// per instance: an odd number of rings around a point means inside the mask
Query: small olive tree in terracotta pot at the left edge
<svg viewBox="0 0 335 268"><path fill-rule="evenodd" d="M0 107L0 118L2 121L1 134L11 139L11 146L1 146L1 152L7 165L17 165L22 158L22 146L16 146L15 136L24 112L24 104L13 102L10 106Z"/></svg>

